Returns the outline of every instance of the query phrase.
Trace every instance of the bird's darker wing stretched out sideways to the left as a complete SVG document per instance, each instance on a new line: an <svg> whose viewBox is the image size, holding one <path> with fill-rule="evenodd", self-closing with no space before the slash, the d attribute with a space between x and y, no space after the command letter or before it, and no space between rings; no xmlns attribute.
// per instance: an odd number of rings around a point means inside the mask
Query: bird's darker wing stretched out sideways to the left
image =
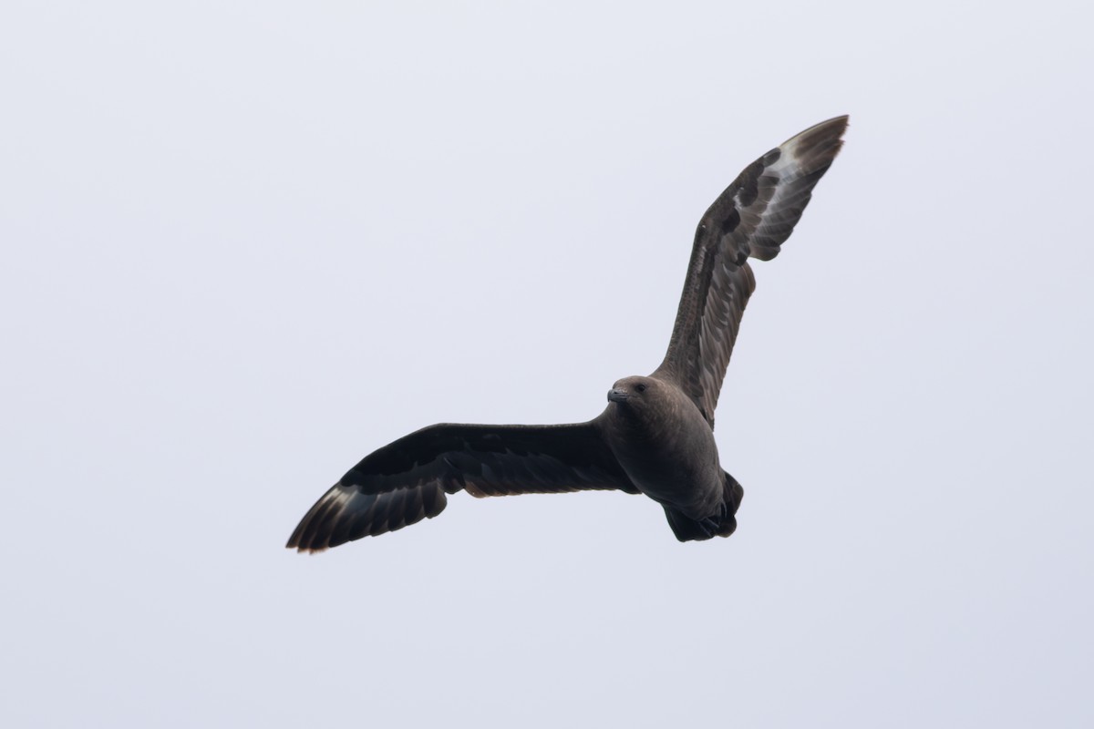
<svg viewBox="0 0 1094 729"><path fill-rule="evenodd" d="M445 494L638 490L593 423L430 425L365 456L301 519L289 549L318 552L444 510Z"/></svg>

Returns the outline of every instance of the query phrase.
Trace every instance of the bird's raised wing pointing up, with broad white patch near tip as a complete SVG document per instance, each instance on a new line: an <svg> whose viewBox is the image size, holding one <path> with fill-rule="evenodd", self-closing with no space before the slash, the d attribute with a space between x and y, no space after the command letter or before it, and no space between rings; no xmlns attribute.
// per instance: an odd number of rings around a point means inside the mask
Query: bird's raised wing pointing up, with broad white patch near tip
<svg viewBox="0 0 1094 729"><path fill-rule="evenodd" d="M703 214L676 324L653 373L679 385L710 426L748 297L747 259L770 260L790 237L813 187L843 144L847 117L806 129L748 165Z"/></svg>

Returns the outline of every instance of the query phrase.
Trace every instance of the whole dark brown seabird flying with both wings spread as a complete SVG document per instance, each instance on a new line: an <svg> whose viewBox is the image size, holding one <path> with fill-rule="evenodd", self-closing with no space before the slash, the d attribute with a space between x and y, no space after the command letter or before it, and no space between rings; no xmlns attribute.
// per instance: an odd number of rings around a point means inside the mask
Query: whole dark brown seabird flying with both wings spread
<svg viewBox="0 0 1094 729"><path fill-rule="evenodd" d="M678 540L729 537L744 491L722 470L714 408L745 304L749 258L770 260L842 145L846 116L775 148L699 221L664 361L608 390L585 423L441 423L365 456L304 515L287 546L321 552L444 510L446 495L615 490L661 504Z"/></svg>

